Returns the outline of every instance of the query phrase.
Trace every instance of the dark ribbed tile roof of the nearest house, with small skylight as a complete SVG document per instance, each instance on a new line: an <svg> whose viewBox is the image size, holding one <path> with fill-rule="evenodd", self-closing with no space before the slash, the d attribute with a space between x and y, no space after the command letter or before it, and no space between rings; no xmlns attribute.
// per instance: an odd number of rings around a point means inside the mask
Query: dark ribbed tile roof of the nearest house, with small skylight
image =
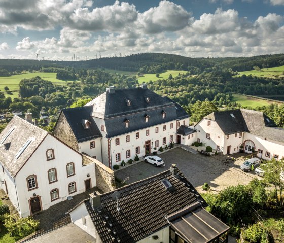
<svg viewBox="0 0 284 243"><path fill-rule="evenodd" d="M174 190L166 190L161 180L167 179ZM112 199L114 192L101 195L101 207L93 210L85 201L88 213L102 242L137 242L167 226L167 215L175 213L197 201L207 206L189 181L178 171L169 170L151 178L117 189L121 194L120 211ZM115 233L114 233L115 232ZM112 237L114 239L112 239Z"/></svg>

